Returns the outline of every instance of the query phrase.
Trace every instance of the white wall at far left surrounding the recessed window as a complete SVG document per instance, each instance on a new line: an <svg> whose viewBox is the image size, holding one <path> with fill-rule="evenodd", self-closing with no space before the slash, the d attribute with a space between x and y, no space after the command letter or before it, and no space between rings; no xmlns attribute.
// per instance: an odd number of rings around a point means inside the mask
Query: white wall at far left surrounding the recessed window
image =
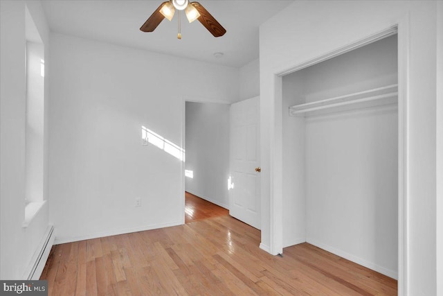
<svg viewBox="0 0 443 296"><path fill-rule="evenodd" d="M48 226L47 203L26 228L24 200L26 188L26 6L45 45L48 58L48 26L39 1L0 1L0 278L23 279L28 265ZM45 87L48 87L46 75ZM45 103L48 100L45 93ZM46 104L45 104L46 110ZM45 128L46 131L46 114ZM45 142L47 134L44 135ZM46 147L44 155L46 154ZM46 172L46 157L44 159ZM46 179L46 176L44 176ZM46 181L44 181L46 182ZM43 186L46 199L46 186Z"/></svg>

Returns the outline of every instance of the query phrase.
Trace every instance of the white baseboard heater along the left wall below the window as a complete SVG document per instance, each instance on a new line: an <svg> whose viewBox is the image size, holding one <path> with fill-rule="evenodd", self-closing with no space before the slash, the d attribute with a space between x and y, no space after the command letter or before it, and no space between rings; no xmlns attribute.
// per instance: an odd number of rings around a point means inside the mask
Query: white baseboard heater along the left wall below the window
<svg viewBox="0 0 443 296"><path fill-rule="evenodd" d="M49 225L46 228L42 241L39 243L39 247L30 261L29 267L24 275L25 279L36 280L40 278L44 265L48 260L49 253L51 252L51 248L53 247L54 238L54 227L53 225Z"/></svg>

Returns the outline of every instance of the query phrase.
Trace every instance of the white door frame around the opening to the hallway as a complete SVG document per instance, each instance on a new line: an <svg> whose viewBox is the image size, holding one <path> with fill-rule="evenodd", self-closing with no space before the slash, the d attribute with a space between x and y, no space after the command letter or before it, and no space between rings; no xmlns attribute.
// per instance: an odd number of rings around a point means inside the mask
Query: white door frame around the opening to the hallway
<svg viewBox="0 0 443 296"><path fill-rule="evenodd" d="M186 176L185 176L185 168L186 168L186 102L194 102L194 103L216 103L216 104L226 104L230 105L233 102L227 100L221 100L217 98L208 98L208 97L200 97L200 96L181 96L181 143L180 146L185 151L183 162L181 162L181 198L180 198L180 206L181 206L181 223L185 224L185 191L186 191Z"/></svg>

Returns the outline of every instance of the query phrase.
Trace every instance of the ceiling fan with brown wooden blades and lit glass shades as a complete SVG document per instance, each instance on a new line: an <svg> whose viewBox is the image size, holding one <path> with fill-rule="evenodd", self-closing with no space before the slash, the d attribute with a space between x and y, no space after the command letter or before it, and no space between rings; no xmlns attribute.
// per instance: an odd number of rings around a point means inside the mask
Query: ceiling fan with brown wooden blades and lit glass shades
<svg viewBox="0 0 443 296"><path fill-rule="evenodd" d="M177 10L179 19L179 33L177 38L181 39L180 32L180 12L185 10L188 21L192 23L198 19L200 23L205 26L214 37L223 36L226 33L225 28L206 10L199 2L189 2L188 0L170 0L160 4L145 24L141 26L140 30L143 32L153 32L157 26L167 18L169 21L174 17L174 12Z"/></svg>

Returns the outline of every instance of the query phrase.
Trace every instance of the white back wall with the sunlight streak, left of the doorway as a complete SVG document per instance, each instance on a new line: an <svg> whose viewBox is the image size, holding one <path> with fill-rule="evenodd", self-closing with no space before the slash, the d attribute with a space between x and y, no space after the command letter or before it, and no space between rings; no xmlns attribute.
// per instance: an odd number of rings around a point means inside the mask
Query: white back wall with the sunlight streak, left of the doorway
<svg viewBox="0 0 443 296"><path fill-rule="evenodd" d="M50 218L56 242L184 223L183 97L237 101L238 69L51 35ZM141 198L141 207L135 207Z"/></svg>

